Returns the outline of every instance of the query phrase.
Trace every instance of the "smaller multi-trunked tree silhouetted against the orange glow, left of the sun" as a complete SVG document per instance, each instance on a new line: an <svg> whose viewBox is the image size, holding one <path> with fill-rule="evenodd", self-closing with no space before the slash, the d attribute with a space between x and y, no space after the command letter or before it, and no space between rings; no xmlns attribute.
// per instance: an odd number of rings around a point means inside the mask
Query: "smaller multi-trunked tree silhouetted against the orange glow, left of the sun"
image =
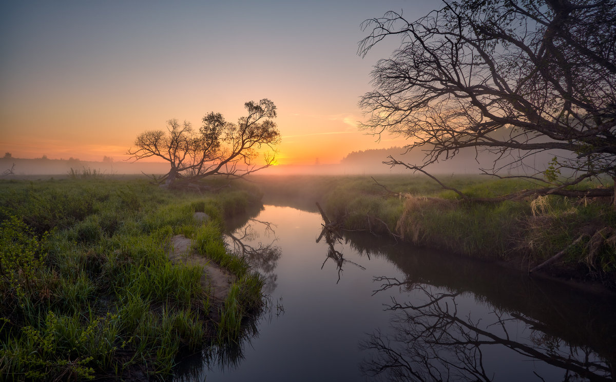
<svg viewBox="0 0 616 382"><path fill-rule="evenodd" d="M129 149L131 160L158 157L169 162L171 169L156 181L175 187L211 175L240 178L266 168L275 160L275 146L280 132L272 119L276 106L269 99L244 104L248 114L238 123L225 121L220 113L203 117L203 126L194 131L190 122L167 122L167 131L152 130L139 134L135 149ZM263 146L272 151L265 154L264 163L257 165L258 150Z"/></svg>

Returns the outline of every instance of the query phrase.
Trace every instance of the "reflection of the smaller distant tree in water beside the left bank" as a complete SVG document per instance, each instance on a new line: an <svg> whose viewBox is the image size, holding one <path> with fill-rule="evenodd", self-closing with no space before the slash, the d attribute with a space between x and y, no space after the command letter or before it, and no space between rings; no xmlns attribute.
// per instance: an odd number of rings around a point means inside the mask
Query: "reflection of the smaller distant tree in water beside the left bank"
<svg viewBox="0 0 616 382"><path fill-rule="evenodd" d="M262 227L265 237L270 239L269 244L263 244L261 241L252 244L259 238L256 226ZM270 294L276 289L278 275L274 273L274 270L278 266L278 259L282 255L280 247L274 245L278 240L274 227L275 225L270 222L251 218L248 219L248 222L243 227L238 228L234 232L227 233L232 251L245 259L251 267L262 271L265 278L265 286L263 287L265 294Z"/></svg>

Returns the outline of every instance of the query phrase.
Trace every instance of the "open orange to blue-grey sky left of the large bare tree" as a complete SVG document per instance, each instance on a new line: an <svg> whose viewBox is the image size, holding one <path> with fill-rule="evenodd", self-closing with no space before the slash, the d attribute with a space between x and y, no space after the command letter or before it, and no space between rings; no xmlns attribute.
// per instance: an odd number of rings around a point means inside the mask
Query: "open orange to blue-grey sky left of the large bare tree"
<svg viewBox="0 0 616 382"><path fill-rule="evenodd" d="M403 146L357 129L370 71L363 20L440 1L4 1L0 4L0 150L13 157L123 160L137 134L169 119L198 129L208 112L237 121L269 98L278 163L338 163Z"/></svg>

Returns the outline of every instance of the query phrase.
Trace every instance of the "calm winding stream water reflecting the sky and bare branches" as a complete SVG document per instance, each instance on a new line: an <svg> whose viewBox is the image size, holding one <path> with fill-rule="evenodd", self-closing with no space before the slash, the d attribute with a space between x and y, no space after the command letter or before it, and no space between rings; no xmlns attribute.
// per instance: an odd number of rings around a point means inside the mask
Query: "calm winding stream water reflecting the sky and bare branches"
<svg viewBox="0 0 616 382"><path fill-rule="evenodd" d="M255 219L275 234L253 220L234 236L275 240L254 259L272 308L239 349L181 362L178 381L612 378L614 297L367 233L316 243L314 212L265 206Z"/></svg>

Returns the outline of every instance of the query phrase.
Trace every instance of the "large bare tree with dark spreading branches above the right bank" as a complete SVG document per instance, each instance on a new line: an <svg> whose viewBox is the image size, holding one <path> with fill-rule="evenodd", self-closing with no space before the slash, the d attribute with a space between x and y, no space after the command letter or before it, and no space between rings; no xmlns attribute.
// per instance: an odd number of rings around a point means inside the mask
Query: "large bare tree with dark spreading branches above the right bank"
<svg viewBox="0 0 616 382"><path fill-rule="evenodd" d="M469 147L497 155L486 174L514 169L548 184L511 197L614 193L565 188L616 179L614 0L444 1L416 21L388 12L362 28L371 31L362 57L387 37L402 40L372 72L363 128L401 134L408 150L426 152L423 163L385 163L428 174ZM548 150L554 159L543 168L525 161Z"/></svg>

